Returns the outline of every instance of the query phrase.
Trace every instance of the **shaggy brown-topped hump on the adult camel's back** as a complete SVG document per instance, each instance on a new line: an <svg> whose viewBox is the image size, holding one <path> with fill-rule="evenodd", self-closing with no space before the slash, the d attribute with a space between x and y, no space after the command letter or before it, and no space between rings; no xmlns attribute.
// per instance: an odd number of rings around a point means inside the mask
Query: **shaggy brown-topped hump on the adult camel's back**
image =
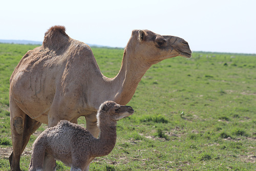
<svg viewBox="0 0 256 171"><path fill-rule="evenodd" d="M66 44L69 38L70 37L66 33L66 28L64 26L53 26L45 33L42 46L51 49L58 49L59 46Z"/></svg>

